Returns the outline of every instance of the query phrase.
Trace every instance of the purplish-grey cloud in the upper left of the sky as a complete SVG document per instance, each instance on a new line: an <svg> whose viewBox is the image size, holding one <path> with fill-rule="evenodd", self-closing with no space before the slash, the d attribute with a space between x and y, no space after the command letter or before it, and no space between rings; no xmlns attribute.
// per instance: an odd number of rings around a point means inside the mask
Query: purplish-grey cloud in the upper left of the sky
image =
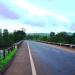
<svg viewBox="0 0 75 75"><path fill-rule="evenodd" d="M12 11L7 5L0 2L0 15L7 19L18 19L19 15Z"/></svg>

